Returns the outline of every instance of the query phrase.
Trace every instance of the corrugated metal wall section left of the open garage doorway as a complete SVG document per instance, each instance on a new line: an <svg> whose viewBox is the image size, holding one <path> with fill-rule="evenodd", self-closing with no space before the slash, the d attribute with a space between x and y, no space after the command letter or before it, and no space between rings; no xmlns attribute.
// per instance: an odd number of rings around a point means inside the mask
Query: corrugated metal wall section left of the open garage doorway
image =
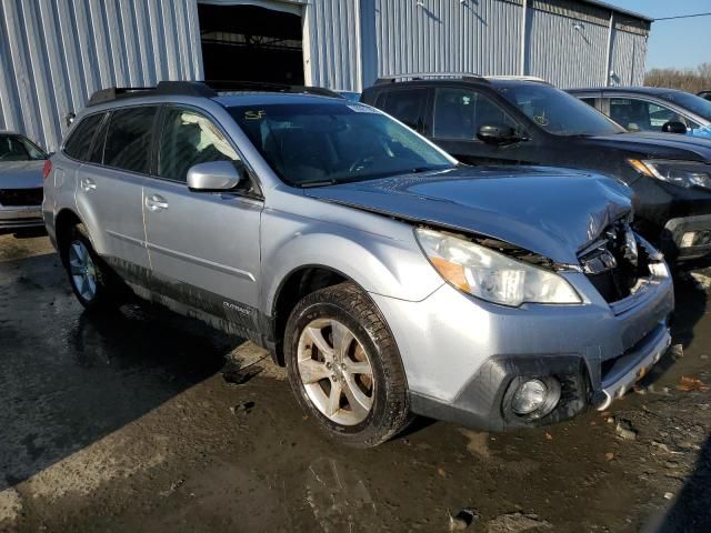
<svg viewBox="0 0 711 533"><path fill-rule="evenodd" d="M194 0L0 3L0 129L48 150L98 89L201 78Z"/></svg>

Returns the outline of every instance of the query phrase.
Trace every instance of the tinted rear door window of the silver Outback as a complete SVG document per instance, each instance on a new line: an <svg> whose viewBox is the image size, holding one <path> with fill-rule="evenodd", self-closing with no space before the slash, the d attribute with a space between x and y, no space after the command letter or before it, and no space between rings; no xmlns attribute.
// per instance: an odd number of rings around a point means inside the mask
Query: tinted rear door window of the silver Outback
<svg viewBox="0 0 711 533"><path fill-rule="evenodd" d="M148 173L153 119L158 108L119 109L109 118L103 164Z"/></svg>

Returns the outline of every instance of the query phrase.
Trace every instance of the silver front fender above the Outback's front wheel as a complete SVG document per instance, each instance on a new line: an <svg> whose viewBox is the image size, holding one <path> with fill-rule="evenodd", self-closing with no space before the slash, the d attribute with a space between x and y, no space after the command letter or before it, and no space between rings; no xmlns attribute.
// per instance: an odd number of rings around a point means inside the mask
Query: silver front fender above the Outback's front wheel
<svg viewBox="0 0 711 533"><path fill-rule="evenodd" d="M412 227L372 217L375 231L284 212L262 213L262 309L282 282L304 266L324 266L368 292L421 301L444 283L417 243Z"/></svg>

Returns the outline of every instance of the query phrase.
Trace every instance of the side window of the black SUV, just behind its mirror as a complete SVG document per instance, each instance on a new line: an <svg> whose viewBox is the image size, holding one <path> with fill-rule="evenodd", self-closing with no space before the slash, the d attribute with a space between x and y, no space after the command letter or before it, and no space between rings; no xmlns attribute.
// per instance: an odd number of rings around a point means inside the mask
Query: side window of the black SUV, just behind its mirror
<svg viewBox="0 0 711 533"><path fill-rule="evenodd" d="M517 123L495 102L469 89L443 88L434 98L433 137L438 139L475 140L482 125Z"/></svg>

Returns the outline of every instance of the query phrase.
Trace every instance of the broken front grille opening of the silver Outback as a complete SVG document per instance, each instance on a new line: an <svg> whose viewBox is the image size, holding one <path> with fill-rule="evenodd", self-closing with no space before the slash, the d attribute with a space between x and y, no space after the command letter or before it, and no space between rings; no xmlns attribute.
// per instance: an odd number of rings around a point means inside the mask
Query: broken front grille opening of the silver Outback
<svg viewBox="0 0 711 533"><path fill-rule="evenodd" d="M592 250L588 249L581 255L580 263L590 282L609 303L629 296L638 281L650 275L648 251L637 243L634 233L623 221L610 225Z"/></svg>

